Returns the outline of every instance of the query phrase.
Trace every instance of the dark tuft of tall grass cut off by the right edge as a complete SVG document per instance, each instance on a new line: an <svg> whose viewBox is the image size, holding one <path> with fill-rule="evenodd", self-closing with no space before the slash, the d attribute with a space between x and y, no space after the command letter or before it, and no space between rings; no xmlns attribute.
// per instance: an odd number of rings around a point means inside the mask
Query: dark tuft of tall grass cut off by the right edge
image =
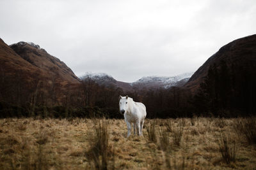
<svg viewBox="0 0 256 170"><path fill-rule="evenodd" d="M243 135L250 144L256 144L256 117L237 118L233 124L237 136Z"/></svg>

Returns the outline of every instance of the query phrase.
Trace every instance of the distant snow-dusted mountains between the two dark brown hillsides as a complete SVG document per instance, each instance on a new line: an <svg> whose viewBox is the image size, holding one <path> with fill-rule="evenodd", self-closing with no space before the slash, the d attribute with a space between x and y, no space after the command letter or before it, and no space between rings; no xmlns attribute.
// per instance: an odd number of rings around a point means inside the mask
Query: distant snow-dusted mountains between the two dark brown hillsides
<svg viewBox="0 0 256 170"><path fill-rule="evenodd" d="M86 73L83 78L91 78L99 83L99 85L119 87L125 92L132 91L134 89L157 89L159 87L168 89L173 86L182 86L193 73L180 74L178 76L147 76L140 78L140 80L126 83L123 81L117 81L112 76L105 73Z"/></svg>

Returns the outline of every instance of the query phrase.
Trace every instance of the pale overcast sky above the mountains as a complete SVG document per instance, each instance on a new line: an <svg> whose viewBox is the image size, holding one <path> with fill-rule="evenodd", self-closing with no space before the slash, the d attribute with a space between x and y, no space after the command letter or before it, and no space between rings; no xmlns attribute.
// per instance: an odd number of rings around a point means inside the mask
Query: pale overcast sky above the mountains
<svg viewBox="0 0 256 170"><path fill-rule="evenodd" d="M0 38L30 41L77 76L195 72L218 49L256 33L255 0L0 1Z"/></svg>

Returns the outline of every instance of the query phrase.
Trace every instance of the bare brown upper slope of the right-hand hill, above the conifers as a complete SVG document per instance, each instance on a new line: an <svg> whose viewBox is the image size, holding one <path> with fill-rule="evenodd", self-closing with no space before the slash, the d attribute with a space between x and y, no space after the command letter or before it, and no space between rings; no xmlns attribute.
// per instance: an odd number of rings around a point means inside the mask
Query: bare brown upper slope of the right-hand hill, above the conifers
<svg viewBox="0 0 256 170"><path fill-rule="evenodd" d="M256 78L256 34L236 39L221 47L197 69L184 87L196 92L207 76L210 66L220 69L221 62L227 64L227 71L234 74L236 80L241 79L241 73L254 74Z"/></svg>

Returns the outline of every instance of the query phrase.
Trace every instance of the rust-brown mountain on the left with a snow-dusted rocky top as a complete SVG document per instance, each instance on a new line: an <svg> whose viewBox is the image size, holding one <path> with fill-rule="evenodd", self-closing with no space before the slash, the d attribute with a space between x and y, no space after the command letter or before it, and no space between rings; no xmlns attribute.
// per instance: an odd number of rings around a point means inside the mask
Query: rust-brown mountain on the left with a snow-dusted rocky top
<svg viewBox="0 0 256 170"><path fill-rule="evenodd" d="M61 103L81 81L60 59L34 43L0 39L0 101ZM32 102L33 101L33 102Z"/></svg>

